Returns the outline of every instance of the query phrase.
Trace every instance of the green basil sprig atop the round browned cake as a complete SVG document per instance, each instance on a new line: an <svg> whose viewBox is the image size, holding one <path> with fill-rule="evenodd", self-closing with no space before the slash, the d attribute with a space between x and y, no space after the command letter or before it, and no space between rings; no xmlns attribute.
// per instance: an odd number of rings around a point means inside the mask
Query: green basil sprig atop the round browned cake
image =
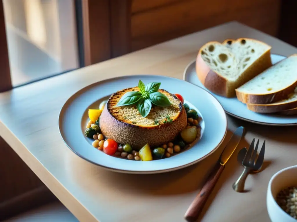
<svg viewBox="0 0 297 222"><path fill-rule="evenodd" d="M170 106L171 102L164 94L158 92L161 83L149 83L146 86L139 80L138 88L139 92L131 91L125 93L119 100L117 106L127 106L136 104L137 109L143 117L149 115L152 104L156 106Z"/></svg>

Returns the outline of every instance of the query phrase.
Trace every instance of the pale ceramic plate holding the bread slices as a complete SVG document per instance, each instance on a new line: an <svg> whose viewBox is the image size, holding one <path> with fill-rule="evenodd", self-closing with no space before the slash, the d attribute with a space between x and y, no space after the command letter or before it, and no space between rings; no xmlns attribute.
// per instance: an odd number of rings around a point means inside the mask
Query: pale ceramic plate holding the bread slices
<svg viewBox="0 0 297 222"><path fill-rule="evenodd" d="M273 64L281 61L285 57L282 55L271 54L271 61ZM216 95L206 89L199 81L195 71L196 61L190 62L184 71L184 80L202 87L206 91L210 92L217 100L222 104L225 111L238 119L246 120L252 123L258 123L262 125L271 126L293 126L297 125L297 115L275 115L275 114L261 114L248 110L246 105L238 101L235 98L225 98L223 96ZM198 94L197 94L198 95Z"/></svg>

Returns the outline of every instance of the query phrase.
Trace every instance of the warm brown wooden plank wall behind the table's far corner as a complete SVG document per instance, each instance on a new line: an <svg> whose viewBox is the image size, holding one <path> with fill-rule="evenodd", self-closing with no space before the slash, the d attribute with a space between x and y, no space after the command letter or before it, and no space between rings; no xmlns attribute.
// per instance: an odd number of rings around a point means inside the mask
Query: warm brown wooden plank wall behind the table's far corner
<svg viewBox="0 0 297 222"><path fill-rule="evenodd" d="M131 49L237 20L276 36L281 0L132 0Z"/></svg>

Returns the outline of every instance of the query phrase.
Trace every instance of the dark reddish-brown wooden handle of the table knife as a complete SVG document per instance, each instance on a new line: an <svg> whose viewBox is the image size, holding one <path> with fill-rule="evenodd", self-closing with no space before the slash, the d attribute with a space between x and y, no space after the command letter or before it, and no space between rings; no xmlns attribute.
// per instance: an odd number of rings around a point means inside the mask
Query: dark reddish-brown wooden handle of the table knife
<svg viewBox="0 0 297 222"><path fill-rule="evenodd" d="M189 206L187 212L184 215L184 218L189 222L194 222L197 220L199 214L201 213L203 206L206 203L209 195L214 189L215 184L217 183L219 177L221 176L225 166L219 164L219 162L215 165L211 174L208 176L206 183L203 185L202 189L193 200L191 205Z"/></svg>

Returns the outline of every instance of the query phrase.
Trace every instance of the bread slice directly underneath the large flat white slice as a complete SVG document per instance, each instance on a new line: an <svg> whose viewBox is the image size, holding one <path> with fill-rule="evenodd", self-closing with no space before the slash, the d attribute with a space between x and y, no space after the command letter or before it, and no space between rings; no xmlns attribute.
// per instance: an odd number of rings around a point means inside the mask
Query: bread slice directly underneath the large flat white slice
<svg viewBox="0 0 297 222"><path fill-rule="evenodd" d="M297 88L287 99L283 99L271 104L247 104L247 108L254 112L273 113L290 110L297 107Z"/></svg>

